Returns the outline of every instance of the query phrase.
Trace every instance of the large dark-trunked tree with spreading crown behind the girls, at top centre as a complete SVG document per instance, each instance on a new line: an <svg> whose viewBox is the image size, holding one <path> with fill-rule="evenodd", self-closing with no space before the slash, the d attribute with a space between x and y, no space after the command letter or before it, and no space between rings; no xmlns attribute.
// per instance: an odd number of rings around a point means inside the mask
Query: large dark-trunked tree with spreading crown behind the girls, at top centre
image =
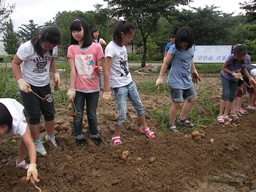
<svg viewBox="0 0 256 192"><path fill-rule="evenodd" d="M147 55L147 38L157 30L157 21L175 12L175 6L186 5L191 0L104 0L108 2L109 13L112 17L124 17L134 23L140 30L143 40L143 55L141 67L145 67Z"/></svg>

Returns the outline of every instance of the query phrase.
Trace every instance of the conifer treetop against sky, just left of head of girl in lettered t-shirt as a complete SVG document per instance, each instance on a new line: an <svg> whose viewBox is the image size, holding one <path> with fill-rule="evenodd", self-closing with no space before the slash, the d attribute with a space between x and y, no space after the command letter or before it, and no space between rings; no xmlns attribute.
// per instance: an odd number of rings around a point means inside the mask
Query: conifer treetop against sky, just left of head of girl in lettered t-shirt
<svg viewBox="0 0 256 192"><path fill-rule="evenodd" d="M38 24L34 24L33 20L29 20L29 24L22 24L21 26L24 26L24 28L19 27L18 36L22 42L27 42L28 40L31 40L31 38L38 35L39 31L44 26L38 26Z"/></svg>

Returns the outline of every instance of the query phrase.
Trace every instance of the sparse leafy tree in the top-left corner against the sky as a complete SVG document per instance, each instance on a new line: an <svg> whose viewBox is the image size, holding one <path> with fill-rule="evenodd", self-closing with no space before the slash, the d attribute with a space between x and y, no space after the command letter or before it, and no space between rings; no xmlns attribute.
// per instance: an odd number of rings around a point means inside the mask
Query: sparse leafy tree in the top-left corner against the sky
<svg viewBox="0 0 256 192"><path fill-rule="evenodd" d="M0 0L0 34L4 31L4 23L13 13L15 4L5 4L5 0Z"/></svg>

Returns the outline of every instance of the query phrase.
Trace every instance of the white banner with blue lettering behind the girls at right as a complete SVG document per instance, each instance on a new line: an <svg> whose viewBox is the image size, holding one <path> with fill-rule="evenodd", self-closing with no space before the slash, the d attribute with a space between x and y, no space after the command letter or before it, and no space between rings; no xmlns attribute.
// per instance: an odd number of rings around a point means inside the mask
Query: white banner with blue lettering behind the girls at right
<svg viewBox="0 0 256 192"><path fill-rule="evenodd" d="M195 45L194 63L224 63L232 45Z"/></svg>

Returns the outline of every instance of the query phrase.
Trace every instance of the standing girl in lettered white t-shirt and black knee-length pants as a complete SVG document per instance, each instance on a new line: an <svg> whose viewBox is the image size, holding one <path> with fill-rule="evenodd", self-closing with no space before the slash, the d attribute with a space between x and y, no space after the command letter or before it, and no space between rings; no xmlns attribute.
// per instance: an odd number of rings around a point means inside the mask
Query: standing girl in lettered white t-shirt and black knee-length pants
<svg viewBox="0 0 256 192"><path fill-rule="evenodd" d="M54 57L58 53L58 45L61 42L60 30L53 26L47 26L39 32L38 36L20 45L17 54L12 60L12 70L16 77L22 104L26 109L29 120L29 129L36 146L36 151L43 156L46 154L43 142L40 139L40 116L44 115L46 140L50 140L54 147L58 147L54 136L54 101L50 86L50 69L53 73L55 90L60 84ZM20 65L22 66L20 68ZM35 92L45 100L40 99Z"/></svg>

